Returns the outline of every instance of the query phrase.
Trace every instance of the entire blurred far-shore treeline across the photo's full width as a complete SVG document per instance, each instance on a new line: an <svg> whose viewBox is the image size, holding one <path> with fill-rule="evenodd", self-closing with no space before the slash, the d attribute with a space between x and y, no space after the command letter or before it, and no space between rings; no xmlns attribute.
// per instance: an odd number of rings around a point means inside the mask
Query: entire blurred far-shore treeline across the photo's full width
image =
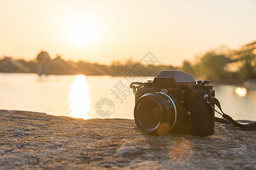
<svg viewBox="0 0 256 170"><path fill-rule="evenodd" d="M254 54L253 54L254 55ZM255 60L255 55L253 56ZM46 59L47 58L47 62ZM248 58L248 57L247 57ZM242 79L255 79L255 66L251 65L251 60L236 61L226 57L224 53L218 50L210 50L195 57L195 61L183 61L183 65L180 67L174 67L171 65L142 65L133 59L127 59L124 62L113 61L111 65L101 65L98 63L90 63L86 61L65 61L60 56L55 59L51 59L47 52L40 52L38 57L31 61L25 61L24 59L14 60L10 57L0 60L0 72L5 73L38 73L46 74L42 72L42 68L47 71L47 74L83 74L83 75L113 75L113 76L125 76L130 75L146 75L156 76L162 70L182 70L185 73L195 76L197 79L210 79L213 81L220 80L242 80ZM228 63L235 63L240 65L240 62L244 62L243 65L237 71L229 71L227 69ZM39 67L41 70L39 70ZM17 69L18 68L18 69Z"/></svg>

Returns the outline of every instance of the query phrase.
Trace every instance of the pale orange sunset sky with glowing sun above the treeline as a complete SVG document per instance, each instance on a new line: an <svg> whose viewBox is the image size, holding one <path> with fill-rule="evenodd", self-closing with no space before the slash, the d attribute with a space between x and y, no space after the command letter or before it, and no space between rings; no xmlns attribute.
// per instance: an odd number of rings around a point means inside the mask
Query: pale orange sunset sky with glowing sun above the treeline
<svg viewBox="0 0 256 170"><path fill-rule="evenodd" d="M256 1L0 0L0 59L52 58L109 64L151 52L181 65L220 45L256 40Z"/></svg>

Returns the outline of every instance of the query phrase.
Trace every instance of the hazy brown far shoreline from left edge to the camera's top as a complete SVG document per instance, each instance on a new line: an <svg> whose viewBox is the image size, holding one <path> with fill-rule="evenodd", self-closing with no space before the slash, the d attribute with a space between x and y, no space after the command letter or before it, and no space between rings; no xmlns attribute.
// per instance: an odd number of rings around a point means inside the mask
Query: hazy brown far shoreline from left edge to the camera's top
<svg viewBox="0 0 256 170"><path fill-rule="evenodd" d="M4 57L0 59L0 72L2 73L38 73L57 74L57 75L113 75L125 76L155 76L161 70L177 70L178 67L166 65L142 65L133 59L126 61L113 61L110 65L90 63L86 61L65 61L60 56L51 59L47 52L40 52L36 59L26 61L24 59L12 59Z"/></svg>

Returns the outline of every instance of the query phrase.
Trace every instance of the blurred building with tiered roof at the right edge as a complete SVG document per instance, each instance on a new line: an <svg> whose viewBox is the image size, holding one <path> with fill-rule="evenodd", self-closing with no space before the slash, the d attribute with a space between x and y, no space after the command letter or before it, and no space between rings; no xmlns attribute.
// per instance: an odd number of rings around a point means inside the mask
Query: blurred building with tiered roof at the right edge
<svg viewBox="0 0 256 170"><path fill-rule="evenodd" d="M256 78L256 41L243 45L239 50L230 50L225 56L229 59L225 71L240 73L242 78Z"/></svg>

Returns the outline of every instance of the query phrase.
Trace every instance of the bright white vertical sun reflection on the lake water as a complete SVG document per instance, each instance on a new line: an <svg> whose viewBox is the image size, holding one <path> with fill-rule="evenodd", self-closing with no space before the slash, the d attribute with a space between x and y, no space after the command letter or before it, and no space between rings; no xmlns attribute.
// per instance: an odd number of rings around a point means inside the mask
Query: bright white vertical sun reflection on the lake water
<svg viewBox="0 0 256 170"><path fill-rule="evenodd" d="M77 75L69 96L71 117L88 119L90 111L89 86L84 75Z"/></svg>

